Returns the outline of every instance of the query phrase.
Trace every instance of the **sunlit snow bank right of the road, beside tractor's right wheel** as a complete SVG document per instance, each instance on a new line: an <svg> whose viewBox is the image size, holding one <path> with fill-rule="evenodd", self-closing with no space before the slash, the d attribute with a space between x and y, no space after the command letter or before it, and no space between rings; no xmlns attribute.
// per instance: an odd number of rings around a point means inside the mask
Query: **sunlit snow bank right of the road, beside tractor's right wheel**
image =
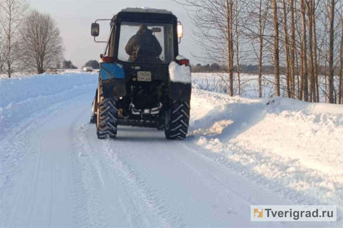
<svg viewBox="0 0 343 228"><path fill-rule="evenodd" d="M267 105L268 104L268 105ZM343 106L194 88L196 151L297 202L343 205Z"/></svg>

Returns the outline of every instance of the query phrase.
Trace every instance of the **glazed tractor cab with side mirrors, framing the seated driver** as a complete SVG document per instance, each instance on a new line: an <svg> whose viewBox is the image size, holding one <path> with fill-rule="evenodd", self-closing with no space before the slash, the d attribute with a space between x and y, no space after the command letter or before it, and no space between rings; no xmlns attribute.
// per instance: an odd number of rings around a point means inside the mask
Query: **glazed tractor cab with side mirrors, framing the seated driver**
<svg viewBox="0 0 343 228"><path fill-rule="evenodd" d="M182 25L170 11L144 8L123 9L110 20L111 27L108 41L96 40L99 35L97 21L92 24L94 40L95 42L107 43L103 56L112 58L115 62L124 65L169 64L179 54L178 43L182 37ZM147 30L152 33L161 45L162 51L158 53L155 59L130 59L130 55L125 50L130 38L137 34L142 25L147 27Z"/></svg>

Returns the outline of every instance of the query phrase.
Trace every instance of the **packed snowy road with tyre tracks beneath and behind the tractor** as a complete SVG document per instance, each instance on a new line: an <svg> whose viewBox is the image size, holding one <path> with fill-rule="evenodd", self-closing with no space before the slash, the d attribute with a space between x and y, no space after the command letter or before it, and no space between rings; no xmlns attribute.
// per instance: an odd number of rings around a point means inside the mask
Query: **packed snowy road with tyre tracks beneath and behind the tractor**
<svg viewBox="0 0 343 228"><path fill-rule="evenodd" d="M250 205L296 202L206 158L192 136L120 127L117 139L98 140L93 90L54 93L46 99L58 102L0 133L0 227L306 226L250 222Z"/></svg>

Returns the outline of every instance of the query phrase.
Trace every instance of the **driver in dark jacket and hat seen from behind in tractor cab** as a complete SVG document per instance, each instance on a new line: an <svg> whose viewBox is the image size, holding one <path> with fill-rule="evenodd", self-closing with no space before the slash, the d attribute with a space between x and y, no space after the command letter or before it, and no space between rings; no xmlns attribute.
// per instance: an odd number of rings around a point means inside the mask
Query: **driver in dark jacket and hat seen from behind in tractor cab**
<svg viewBox="0 0 343 228"><path fill-rule="evenodd" d="M162 53L162 47L152 33L153 31L146 25L139 25L136 35L130 38L125 47L126 53L130 55L130 62L161 62L159 55Z"/></svg>

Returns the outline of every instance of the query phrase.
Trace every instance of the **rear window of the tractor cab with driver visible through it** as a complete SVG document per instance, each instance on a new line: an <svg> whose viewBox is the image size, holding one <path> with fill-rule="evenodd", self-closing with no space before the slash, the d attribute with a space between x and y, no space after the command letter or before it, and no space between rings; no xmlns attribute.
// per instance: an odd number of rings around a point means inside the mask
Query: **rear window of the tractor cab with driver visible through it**
<svg viewBox="0 0 343 228"><path fill-rule="evenodd" d="M118 59L135 63L170 63L174 60L173 25L122 22Z"/></svg>

